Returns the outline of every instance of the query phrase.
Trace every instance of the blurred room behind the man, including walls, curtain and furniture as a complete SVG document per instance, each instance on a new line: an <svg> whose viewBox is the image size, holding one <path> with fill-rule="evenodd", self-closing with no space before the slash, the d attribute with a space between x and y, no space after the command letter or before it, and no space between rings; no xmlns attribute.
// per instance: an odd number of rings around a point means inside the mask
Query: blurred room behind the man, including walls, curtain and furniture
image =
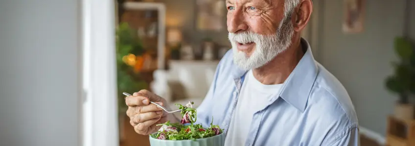
<svg viewBox="0 0 415 146"><path fill-rule="evenodd" d="M415 1L313 0L303 31L345 86L362 146L415 146ZM0 0L0 146L149 146L123 91L205 97L225 0ZM323 111L322 111L323 112Z"/></svg>

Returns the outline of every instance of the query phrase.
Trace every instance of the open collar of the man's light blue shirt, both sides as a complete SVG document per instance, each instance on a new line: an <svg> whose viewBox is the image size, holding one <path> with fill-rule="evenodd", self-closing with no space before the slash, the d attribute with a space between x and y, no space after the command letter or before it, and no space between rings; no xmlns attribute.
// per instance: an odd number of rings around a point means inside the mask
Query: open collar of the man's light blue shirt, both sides
<svg viewBox="0 0 415 146"><path fill-rule="evenodd" d="M301 38L301 43L307 46L305 54L300 59L293 72L285 80L282 90L278 96L273 97L272 102L281 97L289 104L303 112L306 108L308 96L317 77L318 67L311 52L310 44L307 40ZM233 66L233 76L238 90L242 87L243 78L247 71Z"/></svg>

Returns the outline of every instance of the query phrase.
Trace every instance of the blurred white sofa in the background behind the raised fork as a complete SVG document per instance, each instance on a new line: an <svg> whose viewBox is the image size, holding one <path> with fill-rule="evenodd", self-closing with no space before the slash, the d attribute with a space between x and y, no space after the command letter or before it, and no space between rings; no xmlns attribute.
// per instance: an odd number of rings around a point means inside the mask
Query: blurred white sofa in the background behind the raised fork
<svg viewBox="0 0 415 146"><path fill-rule="evenodd" d="M206 96L212 83L219 61L171 60L169 70L154 72L152 91L165 98L168 107L176 110L174 104L185 105L193 101L197 108ZM175 113L180 116L180 113Z"/></svg>

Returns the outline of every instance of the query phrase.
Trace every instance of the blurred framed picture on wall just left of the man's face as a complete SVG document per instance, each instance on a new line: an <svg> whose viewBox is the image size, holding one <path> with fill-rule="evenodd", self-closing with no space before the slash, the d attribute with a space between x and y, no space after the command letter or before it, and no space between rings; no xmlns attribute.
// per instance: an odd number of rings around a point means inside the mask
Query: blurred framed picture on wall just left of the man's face
<svg viewBox="0 0 415 146"><path fill-rule="evenodd" d="M225 0L196 0L196 28L207 31L223 30L225 7Z"/></svg>

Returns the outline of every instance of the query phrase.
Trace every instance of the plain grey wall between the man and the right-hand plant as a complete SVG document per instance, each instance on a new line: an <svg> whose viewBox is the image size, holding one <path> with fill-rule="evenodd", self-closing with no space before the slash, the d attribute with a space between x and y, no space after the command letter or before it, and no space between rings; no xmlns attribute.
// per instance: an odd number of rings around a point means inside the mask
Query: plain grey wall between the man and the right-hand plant
<svg viewBox="0 0 415 146"><path fill-rule="evenodd" d="M364 32L345 35L343 0L324 0L322 47L317 59L346 87L360 126L385 135L397 95L385 88L384 80L393 72L391 62L397 60L393 39L403 35L405 0L365 1ZM414 39L415 2L411 8Z"/></svg>

